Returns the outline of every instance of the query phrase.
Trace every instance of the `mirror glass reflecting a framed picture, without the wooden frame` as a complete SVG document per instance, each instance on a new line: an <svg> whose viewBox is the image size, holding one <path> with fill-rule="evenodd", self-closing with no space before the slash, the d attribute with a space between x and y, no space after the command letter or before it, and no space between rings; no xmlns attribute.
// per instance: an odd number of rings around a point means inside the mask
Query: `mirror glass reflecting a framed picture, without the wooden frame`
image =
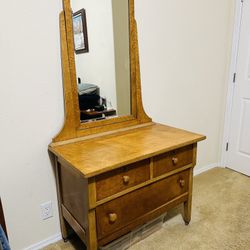
<svg viewBox="0 0 250 250"><path fill-rule="evenodd" d="M131 114L129 0L71 0L80 120Z"/></svg>

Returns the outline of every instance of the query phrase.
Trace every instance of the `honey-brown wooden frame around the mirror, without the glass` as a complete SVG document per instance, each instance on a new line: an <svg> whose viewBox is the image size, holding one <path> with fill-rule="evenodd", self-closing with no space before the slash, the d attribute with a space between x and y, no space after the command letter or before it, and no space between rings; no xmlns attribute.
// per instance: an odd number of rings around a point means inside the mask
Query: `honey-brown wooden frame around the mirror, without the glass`
<svg viewBox="0 0 250 250"><path fill-rule="evenodd" d="M72 10L70 0L63 0L63 11L60 13L60 33L65 121L62 130L55 138L53 138L53 143L120 130L132 126L140 126L152 122L152 119L145 113L142 104L138 35L134 12L134 0L127 1L129 4L130 22L131 115L81 123L76 84Z"/></svg>

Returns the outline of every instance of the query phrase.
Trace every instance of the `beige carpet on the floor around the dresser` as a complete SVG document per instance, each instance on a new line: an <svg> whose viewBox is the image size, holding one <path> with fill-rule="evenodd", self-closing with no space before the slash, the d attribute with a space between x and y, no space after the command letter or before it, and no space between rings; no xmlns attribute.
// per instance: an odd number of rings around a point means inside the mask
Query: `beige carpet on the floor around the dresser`
<svg viewBox="0 0 250 250"><path fill-rule="evenodd" d="M250 178L216 168L194 179L193 213L189 226L181 208L168 214L162 229L129 250L250 249ZM85 249L77 239L46 250Z"/></svg>

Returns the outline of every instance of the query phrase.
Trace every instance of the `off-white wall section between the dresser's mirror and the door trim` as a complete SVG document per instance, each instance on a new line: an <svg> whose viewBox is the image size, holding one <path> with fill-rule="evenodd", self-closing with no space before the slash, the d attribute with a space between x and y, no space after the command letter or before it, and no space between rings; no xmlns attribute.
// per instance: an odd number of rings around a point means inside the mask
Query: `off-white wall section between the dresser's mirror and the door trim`
<svg viewBox="0 0 250 250"><path fill-rule="evenodd" d="M157 122L207 136L198 166L220 161L234 0L136 0L142 92Z"/></svg>

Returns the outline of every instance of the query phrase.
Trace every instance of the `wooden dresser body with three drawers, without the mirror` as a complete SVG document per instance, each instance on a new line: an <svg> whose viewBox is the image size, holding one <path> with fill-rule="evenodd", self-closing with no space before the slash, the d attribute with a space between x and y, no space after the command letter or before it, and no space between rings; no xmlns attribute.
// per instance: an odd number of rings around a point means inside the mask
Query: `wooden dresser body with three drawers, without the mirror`
<svg viewBox="0 0 250 250"><path fill-rule="evenodd" d="M188 224L197 142L203 139L150 124L51 146L63 237L68 223L97 249L180 203Z"/></svg>

